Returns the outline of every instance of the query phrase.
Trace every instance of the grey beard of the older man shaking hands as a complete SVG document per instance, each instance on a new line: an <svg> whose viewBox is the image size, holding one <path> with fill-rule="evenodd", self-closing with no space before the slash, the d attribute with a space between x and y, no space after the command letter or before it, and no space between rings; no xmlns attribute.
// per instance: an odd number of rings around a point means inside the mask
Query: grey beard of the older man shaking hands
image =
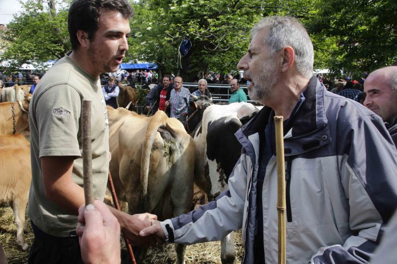
<svg viewBox="0 0 397 264"><path fill-rule="evenodd" d="M262 75L257 79L249 72L248 76L254 82L251 91L248 91L248 96L251 100L264 103L268 98L271 88L277 83L279 73L276 71L276 63L274 59L267 58L261 67Z"/></svg>

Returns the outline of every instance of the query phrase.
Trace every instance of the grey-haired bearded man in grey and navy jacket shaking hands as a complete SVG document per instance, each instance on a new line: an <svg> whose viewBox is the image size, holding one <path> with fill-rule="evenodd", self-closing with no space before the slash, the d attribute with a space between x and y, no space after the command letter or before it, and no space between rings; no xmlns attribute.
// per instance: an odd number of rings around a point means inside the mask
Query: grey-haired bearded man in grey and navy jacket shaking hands
<svg viewBox="0 0 397 264"><path fill-rule="evenodd" d="M242 227L242 263L277 263L273 116L281 115L286 263L367 263L397 206L397 151L381 118L312 76L313 45L295 18L266 17L251 37L238 68L265 106L235 134L243 149L229 190L140 235L192 244Z"/></svg>

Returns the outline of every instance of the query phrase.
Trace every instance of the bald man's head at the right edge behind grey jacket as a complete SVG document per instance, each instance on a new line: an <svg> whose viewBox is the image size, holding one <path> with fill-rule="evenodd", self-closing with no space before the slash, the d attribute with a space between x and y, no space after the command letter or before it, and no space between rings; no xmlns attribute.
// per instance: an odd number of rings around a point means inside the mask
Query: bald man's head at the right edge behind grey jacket
<svg viewBox="0 0 397 264"><path fill-rule="evenodd" d="M397 116L397 66L375 70L364 82L367 97L364 106L374 111L385 122Z"/></svg>

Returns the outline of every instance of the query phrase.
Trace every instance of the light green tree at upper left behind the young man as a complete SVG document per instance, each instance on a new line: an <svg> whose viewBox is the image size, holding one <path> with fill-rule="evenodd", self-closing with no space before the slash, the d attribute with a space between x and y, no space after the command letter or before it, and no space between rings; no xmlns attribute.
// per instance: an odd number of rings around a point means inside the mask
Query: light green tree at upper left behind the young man
<svg viewBox="0 0 397 264"><path fill-rule="evenodd" d="M52 1L54 3L54 1ZM67 10L50 14L42 0L21 1L22 11L7 25L0 60L11 62L11 69L27 61L45 62L62 58L70 50Z"/></svg>

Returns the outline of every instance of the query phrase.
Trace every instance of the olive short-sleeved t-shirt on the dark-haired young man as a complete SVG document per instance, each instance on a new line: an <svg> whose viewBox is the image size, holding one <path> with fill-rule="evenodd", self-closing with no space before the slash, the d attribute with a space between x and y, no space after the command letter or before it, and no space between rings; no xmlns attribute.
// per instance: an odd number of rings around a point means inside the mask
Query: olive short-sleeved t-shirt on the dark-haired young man
<svg viewBox="0 0 397 264"><path fill-rule="evenodd" d="M92 176L95 198L101 201L109 169L109 123L99 76L88 74L68 54L43 76L29 106L32 183L27 212L37 227L58 237L75 231L77 216L46 198L40 158L74 156L72 178L83 186L83 98L91 100Z"/></svg>

